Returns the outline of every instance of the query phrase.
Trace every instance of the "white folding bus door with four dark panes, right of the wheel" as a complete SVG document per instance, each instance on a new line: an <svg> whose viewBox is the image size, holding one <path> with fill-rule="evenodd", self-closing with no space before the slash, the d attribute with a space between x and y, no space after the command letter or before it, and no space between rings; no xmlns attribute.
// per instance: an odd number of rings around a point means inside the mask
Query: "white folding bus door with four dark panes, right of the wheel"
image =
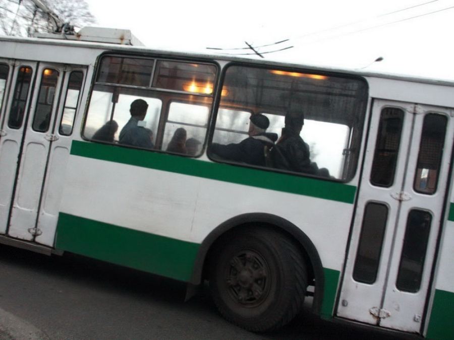
<svg viewBox="0 0 454 340"><path fill-rule="evenodd" d="M442 107L374 101L337 316L422 332L453 116Z"/></svg>

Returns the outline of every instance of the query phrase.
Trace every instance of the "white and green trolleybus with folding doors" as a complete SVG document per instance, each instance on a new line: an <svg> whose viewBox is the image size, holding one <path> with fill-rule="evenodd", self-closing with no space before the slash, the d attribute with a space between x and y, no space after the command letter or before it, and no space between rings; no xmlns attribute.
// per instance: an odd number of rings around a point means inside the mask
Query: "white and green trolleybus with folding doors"
<svg viewBox="0 0 454 340"><path fill-rule="evenodd" d="M220 313L252 331L310 295L326 319L450 338L454 83L84 32L0 38L1 243L187 282L188 298L209 281ZM152 147L120 138L137 99ZM304 115L318 170L276 165L276 138L261 164L213 152L257 114L277 138Z"/></svg>

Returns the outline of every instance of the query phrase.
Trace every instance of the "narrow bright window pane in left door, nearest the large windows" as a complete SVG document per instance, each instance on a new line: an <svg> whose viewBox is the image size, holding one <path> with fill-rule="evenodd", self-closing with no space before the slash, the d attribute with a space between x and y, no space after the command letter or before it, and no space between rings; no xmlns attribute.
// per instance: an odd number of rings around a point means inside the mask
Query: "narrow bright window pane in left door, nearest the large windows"
<svg viewBox="0 0 454 340"><path fill-rule="evenodd" d="M60 122L60 134L70 135L73 133L76 109L79 103L79 94L82 89L84 74L80 71L71 72L66 92L65 106L63 108L62 121Z"/></svg>

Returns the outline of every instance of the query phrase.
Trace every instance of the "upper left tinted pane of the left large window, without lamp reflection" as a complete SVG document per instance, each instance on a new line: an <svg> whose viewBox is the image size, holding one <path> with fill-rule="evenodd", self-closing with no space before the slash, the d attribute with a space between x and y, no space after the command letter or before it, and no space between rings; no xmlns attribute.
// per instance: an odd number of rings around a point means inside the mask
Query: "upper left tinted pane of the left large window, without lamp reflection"
<svg viewBox="0 0 454 340"><path fill-rule="evenodd" d="M105 56L101 59L99 83L150 86L153 59Z"/></svg>

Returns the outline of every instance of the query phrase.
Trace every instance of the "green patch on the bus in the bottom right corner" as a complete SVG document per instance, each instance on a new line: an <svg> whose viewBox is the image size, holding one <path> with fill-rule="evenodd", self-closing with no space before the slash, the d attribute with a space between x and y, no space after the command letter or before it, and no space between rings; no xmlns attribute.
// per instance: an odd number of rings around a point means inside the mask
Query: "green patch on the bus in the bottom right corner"
<svg viewBox="0 0 454 340"><path fill-rule="evenodd" d="M452 339L454 334L454 293L436 290L426 337L431 340Z"/></svg>

